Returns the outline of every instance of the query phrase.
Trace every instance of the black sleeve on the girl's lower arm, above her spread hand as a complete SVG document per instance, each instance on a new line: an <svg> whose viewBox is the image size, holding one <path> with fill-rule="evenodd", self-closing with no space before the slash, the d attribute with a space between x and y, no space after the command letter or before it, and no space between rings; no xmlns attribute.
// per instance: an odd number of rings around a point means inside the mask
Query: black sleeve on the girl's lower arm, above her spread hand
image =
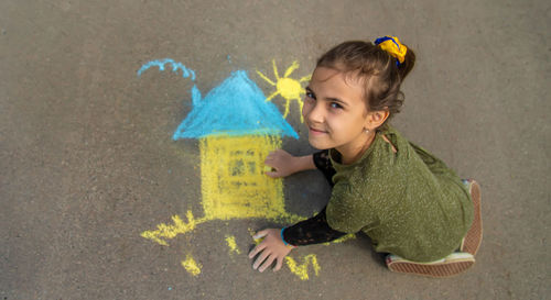
<svg viewBox="0 0 551 300"><path fill-rule="evenodd" d="M293 246L326 243L345 234L329 227L325 216L325 208L315 216L289 226L282 232L283 240Z"/></svg>

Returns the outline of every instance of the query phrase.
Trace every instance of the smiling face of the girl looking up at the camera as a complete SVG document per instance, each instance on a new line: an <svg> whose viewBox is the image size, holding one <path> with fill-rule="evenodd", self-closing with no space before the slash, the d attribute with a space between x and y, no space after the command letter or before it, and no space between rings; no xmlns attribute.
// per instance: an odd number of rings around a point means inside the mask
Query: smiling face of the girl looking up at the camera
<svg viewBox="0 0 551 300"><path fill-rule="evenodd" d="M318 149L336 148L341 154L361 148L369 136L363 87L356 78L317 67L306 87L302 115L309 126L309 142Z"/></svg>

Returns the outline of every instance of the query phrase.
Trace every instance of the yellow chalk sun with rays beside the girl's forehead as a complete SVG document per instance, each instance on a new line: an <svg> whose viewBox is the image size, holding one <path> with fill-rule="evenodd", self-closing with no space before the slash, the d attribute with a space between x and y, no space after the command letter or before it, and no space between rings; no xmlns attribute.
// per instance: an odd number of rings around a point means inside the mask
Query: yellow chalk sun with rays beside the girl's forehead
<svg viewBox="0 0 551 300"><path fill-rule="evenodd" d="M258 75L264 79L268 84L272 85L276 87L276 91L270 95L268 98L266 98L266 101L272 100L276 96L280 95L283 99L285 99L285 112L283 113L283 118L287 118L289 114L289 107L292 100L296 100L299 103L299 112L301 115L301 123L304 122L302 118L302 107L304 102L302 101L302 95L304 93L304 89L302 88L301 84L304 81L309 81L311 76L304 76L301 79L296 80L293 78L289 78L289 76L299 68L299 62L294 60L289 68L287 68L285 74L283 77L279 76L278 73L278 67L276 66L276 59L272 59L272 65L273 65L273 74L276 75L276 82L273 82L270 78L268 78L266 75L257 70Z"/></svg>

